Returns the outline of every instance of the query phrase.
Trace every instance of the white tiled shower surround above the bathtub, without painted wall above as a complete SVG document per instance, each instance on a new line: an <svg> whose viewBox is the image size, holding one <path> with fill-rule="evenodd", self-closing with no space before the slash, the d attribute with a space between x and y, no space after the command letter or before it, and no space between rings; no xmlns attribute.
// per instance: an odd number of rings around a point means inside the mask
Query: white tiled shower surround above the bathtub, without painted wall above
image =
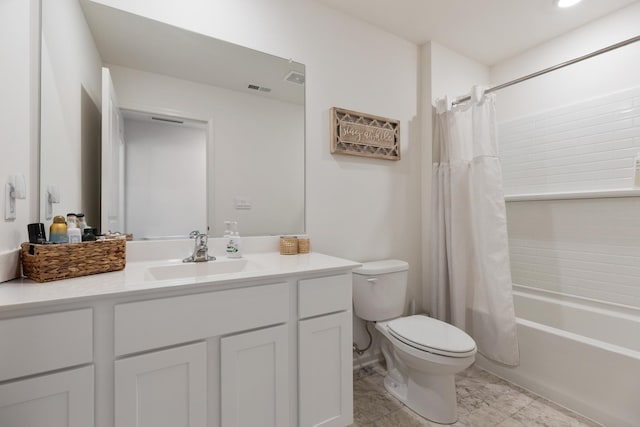
<svg viewBox="0 0 640 427"><path fill-rule="evenodd" d="M506 195L630 189L640 88L498 127ZM508 202L507 217L514 283L640 307L640 194Z"/></svg>

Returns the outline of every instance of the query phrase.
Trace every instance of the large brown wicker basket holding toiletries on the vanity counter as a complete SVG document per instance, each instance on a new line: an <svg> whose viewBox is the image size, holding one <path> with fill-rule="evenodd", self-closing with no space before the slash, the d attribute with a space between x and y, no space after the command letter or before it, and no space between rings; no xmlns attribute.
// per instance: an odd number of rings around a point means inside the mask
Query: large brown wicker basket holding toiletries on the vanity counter
<svg viewBox="0 0 640 427"><path fill-rule="evenodd" d="M126 241L55 245L21 245L22 272L36 282L69 279L122 270L126 265Z"/></svg>

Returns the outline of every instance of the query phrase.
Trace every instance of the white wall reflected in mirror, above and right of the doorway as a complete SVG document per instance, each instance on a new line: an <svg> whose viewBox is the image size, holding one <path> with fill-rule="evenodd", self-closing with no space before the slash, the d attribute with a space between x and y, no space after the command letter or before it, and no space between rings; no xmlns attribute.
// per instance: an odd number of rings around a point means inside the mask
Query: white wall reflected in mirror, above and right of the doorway
<svg viewBox="0 0 640 427"><path fill-rule="evenodd" d="M304 229L302 105L130 68L110 68L122 108L168 111L211 122L210 233L222 235L226 220L238 221L241 235ZM202 161L206 167L204 157ZM236 209L237 197L249 201L251 209ZM183 226L181 234L196 224Z"/></svg>

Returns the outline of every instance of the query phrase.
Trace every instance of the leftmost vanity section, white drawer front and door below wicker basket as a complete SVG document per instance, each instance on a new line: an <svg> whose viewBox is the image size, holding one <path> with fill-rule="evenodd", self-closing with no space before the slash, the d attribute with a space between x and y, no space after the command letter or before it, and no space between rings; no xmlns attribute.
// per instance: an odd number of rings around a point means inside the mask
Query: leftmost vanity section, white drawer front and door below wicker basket
<svg viewBox="0 0 640 427"><path fill-rule="evenodd" d="M92 310L0 320L0 426L94 424Z"/></svg>

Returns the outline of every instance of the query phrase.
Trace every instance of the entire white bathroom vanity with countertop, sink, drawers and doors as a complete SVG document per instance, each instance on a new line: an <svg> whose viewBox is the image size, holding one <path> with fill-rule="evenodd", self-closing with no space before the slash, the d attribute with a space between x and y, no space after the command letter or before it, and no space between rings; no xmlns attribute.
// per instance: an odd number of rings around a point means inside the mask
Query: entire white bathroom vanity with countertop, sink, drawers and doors
<svg viewBox="0 0 640 427"><path fill-rule="evenodd" d="M123 271L0 285L0 425L351 424L359 264L274 252L183 264L183 243L130 244ZM176 247L172 261L131 261ZM209 275L189 276L201 266Z"/></svg>

